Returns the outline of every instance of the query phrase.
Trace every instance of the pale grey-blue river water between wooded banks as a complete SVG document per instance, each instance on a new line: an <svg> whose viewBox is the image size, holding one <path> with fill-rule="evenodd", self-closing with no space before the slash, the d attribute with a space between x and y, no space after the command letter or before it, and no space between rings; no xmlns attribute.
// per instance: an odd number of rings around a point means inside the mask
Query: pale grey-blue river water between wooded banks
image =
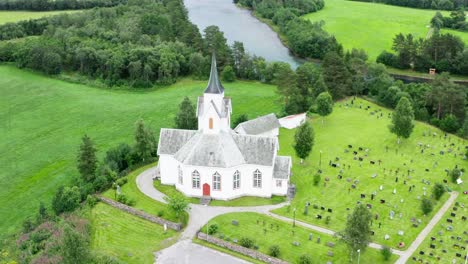
<svg viewBox="0 0 468 264"><path fill-rule="evenodd" d="M268 25L260 22L250 11L238 8L232 0L184 0L189 18L203 34L207 26L216 25L224 32L229 44L244 43L250 54L267 61L284 61L297 68L302 62L294 57Z"/></svg>

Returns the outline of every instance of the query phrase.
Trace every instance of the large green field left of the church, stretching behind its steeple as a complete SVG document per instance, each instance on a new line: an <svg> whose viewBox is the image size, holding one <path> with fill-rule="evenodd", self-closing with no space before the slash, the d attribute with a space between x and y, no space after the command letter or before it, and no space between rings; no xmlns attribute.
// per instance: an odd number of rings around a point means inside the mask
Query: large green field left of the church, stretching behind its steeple
<svg viewBox="0 0 468 264"><path fill-rule="evenodd" d="M195 103L206 87L206 80L182 79L146 90L99 89L8 65L0 65L0 76L0 239L19 230L40 201L50 203L58 186L78 175L76 154L85 133L102 158L122 142L133 144L139 118L156 133L172 127L183 96ZM279 112L273 85L224 86L235 106L233 119Z"/></svg>

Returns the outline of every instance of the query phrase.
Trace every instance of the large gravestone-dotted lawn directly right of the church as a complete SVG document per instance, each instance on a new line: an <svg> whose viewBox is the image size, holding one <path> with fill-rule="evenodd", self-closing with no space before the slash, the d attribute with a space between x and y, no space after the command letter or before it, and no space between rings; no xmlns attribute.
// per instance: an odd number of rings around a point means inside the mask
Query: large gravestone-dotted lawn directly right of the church
<svg viewBox="0 0 468 264"><path fill-rule="evenodd" d="M379 107L363 99L354 101L354 107L345 108L344 104L350 104L351 100L342 101L335 104L333 113L324 119L314 117L310 122L315 130L315 145L311 155L300 164L299 158L294 154L292 144L294 142L295 130L282 129L280 131L280 155L291 155L293 157L293 167L291 182L296 185L296 197L292 201L291 206L276 209L274 213L293 218L293 208L297 208L296 218L298 220L308 222L314 225L319 225L334 231L341 231L345 228L346 217L351 213L358 202L372 205L371 212L375 216L379 214L378 220L373 220L372 230L375 235L373 241L396 248L399 242L404 242L406 249L411 242L416 238L417 234L427 225L435 212L448 199L446 193L441 197L441 200L434 203L433 212L424 216L420 209L421 201L418 200L424 197L423 188L427 189L427 196L430 197L434 183L442 183L444 179L448 179L445 169L453 169L455 165L459 168L468 168L467 161L462 159L462 155L454 157L454 153L447 153L448 144L455 143L455 151L458 147L461 150L467 145L467 141L459 139L453 135L449 135L448 139L444 139L443 133L434 127L427 124L416 122L413 134L409 139L403 139L400 145L397 145L397 138L388 130L390 118L387 117L391 111ZM359 106L362 104L362 109ZM340 107L340 105L342 107ZM366 106L370 106L369 110L364 110ZM377 118L379 114L371 115L370 112L381 110L382 118ZM430 134L436 132L437 136L423 136L423 133ZM450 141L449 141L450 139ZM429 144L430 147L420 153L418 143ZM447 144L447 147L444 145ZM352 149L348 148L352 145ZM389 147L388 153L385 146ZM359 147L363 151L359 151ZM365 156L365 149L369 149L368 157ZM398 150L398 154L396 154ZM321 168L323 174L318 186L313 184L313 176L319 169L321 155ZM345 153L345 151L349 151ZM359 161L354 160L353 151L357 151L356 157L362 157L362 167L359 166ZM445 154L439 154L444 151ZM457 151L460 152L460 151ZM434 155L432 155L434 153ZM339 158L339 161L335 161ZM382 164L378 165L378 160ZM413 160L413 162L411 162ZM333 168L329 166L329 161L339 163L341 168ZM370 164L374 161L375 165ZM438 165L434 168L435 162ZM346 165L346 168L345 168ZM350 165L350 169L348 169ZM384 174L384 168L386 169ZM338 179L340 170L343 169L341 175L343 178ZM390 175L389 170L392 170ZM396 183L395 171L399 169L398 183ZM414 170L407 177L408 169ZM428 169L429 172L425 170ZM377 174L376 178L372 178L373 174ZM329 181L325 181L329 178ZM422 180L430 181L430 185L423 184ZM349 180L349 182L348 182ZM352 188L352 184L358 180L356 189ZM405 184L406 181L406 184ZM448 188L460 191L463 186L456 186L448 181ZM325 186L326 183L326 186ZM383 190L379 191L380 185ZM409 192L409 187L414 185L412 192ZM445 185L445 184L444 184ZM396 194L392 194L396 189ZM371 194L376 192L375 199L371 200ZM365 198L361 199L361 194ZM384 204L380 200L385 200ZM403 199L403 202L401 202ZM304 215L304 205L310 202L309 214ZM314 209L314 205L318 209ZM326 209L321 210L321 207ZM332 213L327 212L327 209L332 209ZM349 210L348 210L349 209ZM394 219L390 220L390 212L394 211ZM400 219L400 215L402 218ZM322 215L322 219L316 219L316 215ZM330 223L325 224L325 219L330 216ZM415 222L421 220L418 227L413 227ZM382 223L381 228L378 224ZM398 235L398 231L404 232L403 236ZM384 240L384 236L388 234L389 240Z"/></svg>

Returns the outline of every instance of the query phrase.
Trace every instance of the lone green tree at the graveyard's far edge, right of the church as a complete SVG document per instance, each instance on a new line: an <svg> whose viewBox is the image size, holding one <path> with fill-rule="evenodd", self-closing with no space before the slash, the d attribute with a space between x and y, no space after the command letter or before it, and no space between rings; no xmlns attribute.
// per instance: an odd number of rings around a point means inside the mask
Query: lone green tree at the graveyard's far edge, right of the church
<svg viewBox="0 0 468 264"><path fill-rule="evenodd" d="M398 102L395 111L392 114L392 124L390 125L390 132L398 137L398 144L400 137L409 138L414 128L414 112L411 102L406 97L402 97Z"/></svg>

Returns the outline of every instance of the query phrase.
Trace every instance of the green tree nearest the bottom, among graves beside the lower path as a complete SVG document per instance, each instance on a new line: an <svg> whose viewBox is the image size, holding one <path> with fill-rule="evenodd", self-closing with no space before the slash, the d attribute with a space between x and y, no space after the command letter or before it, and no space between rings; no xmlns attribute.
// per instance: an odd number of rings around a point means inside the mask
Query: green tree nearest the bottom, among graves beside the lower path
<svg viewBox="0 0 468 264"><path fill-rule="evenodd" d="M348 245L351 254L358 249L364 251L371 241L371 220L372 214L363 204L357 205L352 214L348 215L342 239Z"/></svg>

